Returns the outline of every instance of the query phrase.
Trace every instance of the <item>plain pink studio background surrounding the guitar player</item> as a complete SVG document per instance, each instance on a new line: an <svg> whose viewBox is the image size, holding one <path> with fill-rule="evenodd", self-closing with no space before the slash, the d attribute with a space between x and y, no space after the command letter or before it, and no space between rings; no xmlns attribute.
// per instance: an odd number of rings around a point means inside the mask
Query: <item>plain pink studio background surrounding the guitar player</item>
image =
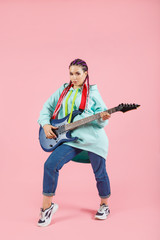
<svg viewBox="0 0 160 240"><path fill-rule="evenodd" d="M0 1L1 236L3 239L158 239L160 1ZM75 58L89 67L111 115L107 172L111 214L94 220L100 198L90 164L60 170L47 228L36 226L43 164L38 141L44 102Z"/></svg>

